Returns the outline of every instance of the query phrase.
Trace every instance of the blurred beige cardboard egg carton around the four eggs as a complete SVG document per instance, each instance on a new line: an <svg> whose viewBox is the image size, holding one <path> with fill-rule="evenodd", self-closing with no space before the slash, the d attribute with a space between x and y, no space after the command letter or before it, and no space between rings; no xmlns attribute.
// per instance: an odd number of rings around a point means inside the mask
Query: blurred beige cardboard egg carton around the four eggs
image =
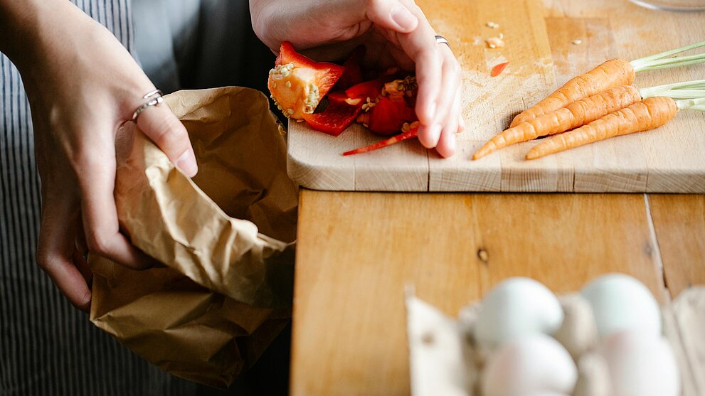
<svg viewBox="0 0 705 396"><path fill-rule="evenodd" d="M574 320L566 326L574 316L568 311L575 309L578 299L578 294L558 296L566 319L553 334L578 368L578 381L570 396L613 396L604 361L593 358L599 337L585 336L585 326ZM458 318L453 318L415 296L413 287L406 290L413 396L483 396L480 380L488 353L472 339L481 304L465 306ZM687 289L672 304L662 306L661 315L663 336L678 367L680 395L705 396L705 287Z"/></svg>

